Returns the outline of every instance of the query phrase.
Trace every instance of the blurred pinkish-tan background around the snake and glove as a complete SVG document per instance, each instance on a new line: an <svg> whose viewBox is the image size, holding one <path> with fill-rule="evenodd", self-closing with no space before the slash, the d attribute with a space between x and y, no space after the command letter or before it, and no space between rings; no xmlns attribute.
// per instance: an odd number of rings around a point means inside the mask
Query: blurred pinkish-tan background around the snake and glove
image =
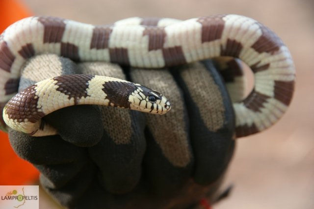
<svg viewBox="0 0 314 209"><path fill-rule="evenodd" d="M314 208L314 70L311 64L314 60L314 0L19 2L26 7L24 15L52 15L91 24L109 24L134 16L185 20L233 13L254 18L270 27L286 43L295 61L294 98L288 112L276 125L238 140L226 179L226 185L235 185L234 190L214 209ZM2 164L0 166L3 173ZM27 169L32 171L33 168ZM37 175L35 171L30 172L30 180L36 179ZM47 196L44 198L43 192L40 195L40 208L58 208Z"/></svg>

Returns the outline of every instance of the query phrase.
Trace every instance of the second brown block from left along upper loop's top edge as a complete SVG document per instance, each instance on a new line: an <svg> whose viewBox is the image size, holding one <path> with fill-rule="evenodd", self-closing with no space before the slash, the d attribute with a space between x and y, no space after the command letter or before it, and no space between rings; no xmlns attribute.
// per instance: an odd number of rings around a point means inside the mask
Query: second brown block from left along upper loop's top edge
<svg viewBox="0 0 314 209"><path fill-rule="evenodd" d="M93 29L90 49L107 49L112 28L108 26L95 26Z"/></svg>

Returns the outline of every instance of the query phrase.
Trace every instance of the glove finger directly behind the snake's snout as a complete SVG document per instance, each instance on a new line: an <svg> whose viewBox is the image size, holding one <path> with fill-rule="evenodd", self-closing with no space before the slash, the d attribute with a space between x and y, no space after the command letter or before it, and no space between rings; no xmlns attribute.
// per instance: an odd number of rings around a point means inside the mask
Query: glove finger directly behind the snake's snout
<svg viewBox="0 0 314 209"><path fill-rule="evenodd" d="M147 151L144 157L144 173L154 192L170 193L182 187L193 166L181 89L168 70L131 69L130 75L133 82L164 93L172 105L165 115L145 114Z"/></svg>

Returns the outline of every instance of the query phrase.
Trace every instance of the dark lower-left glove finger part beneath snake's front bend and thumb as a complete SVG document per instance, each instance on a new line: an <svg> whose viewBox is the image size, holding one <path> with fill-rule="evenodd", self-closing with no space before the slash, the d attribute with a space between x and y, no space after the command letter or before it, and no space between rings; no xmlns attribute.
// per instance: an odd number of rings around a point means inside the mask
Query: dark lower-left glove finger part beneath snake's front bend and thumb
<svg viewBox="0 0 314 209"><path fill-rule="evenodd" d="M59 135L32 137L18 131L9 131L14 151L31 162L49 180L49 187L57 188L78 174L86 151L61 139Z"/></svg>

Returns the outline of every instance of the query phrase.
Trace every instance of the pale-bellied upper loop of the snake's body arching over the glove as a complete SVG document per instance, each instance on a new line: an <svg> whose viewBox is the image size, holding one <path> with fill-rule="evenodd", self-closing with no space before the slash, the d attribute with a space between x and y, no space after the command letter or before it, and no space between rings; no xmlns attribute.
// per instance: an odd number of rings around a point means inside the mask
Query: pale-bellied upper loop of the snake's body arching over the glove
<svg viewBox="0 0 314 209"><path fill-rule="evenodd" d="M164 68L219 56L239 58L253 71L255 86L247 98L234 103L238 137L274 124L287 110L294 90L295 69L288 48L274 32L248 17L215 15L174 24L169 24L169 19L150 19L148 23L131 18L108 26L30 17L0 35L0 108L4 121L15 124L7 123L12 128L25 122L7 108L15 101L10 98L17 93L21 68L28 58L46 52L74 61L141 68ZM37 93L37 89L33 91Z"/></svg>

